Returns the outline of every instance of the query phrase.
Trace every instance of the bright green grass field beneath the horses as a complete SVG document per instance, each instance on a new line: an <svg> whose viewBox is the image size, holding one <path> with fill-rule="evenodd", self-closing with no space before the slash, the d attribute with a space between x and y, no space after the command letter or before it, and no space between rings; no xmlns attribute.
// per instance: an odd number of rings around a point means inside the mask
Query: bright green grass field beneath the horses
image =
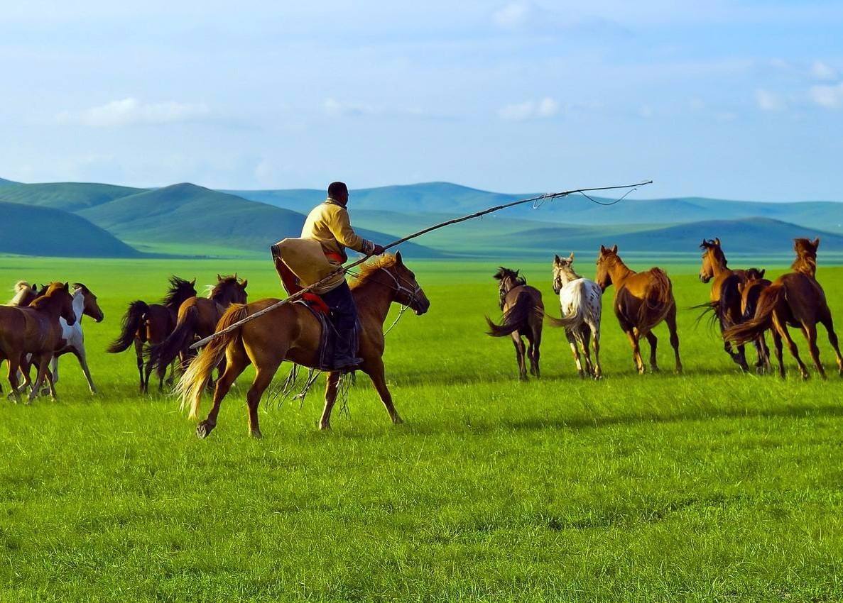
<svg viewBox="0 0 843 603"><path fill-rule="evenodd" d="M507 264L558 315L550 262ZM4 288L81 280L106 314L84 323L99 395L65 357L57 403L0 406L0 600L843 599L843 380L824 332L828 382L787 356L786 382L743 376L682 310L685 375L661 327L663 372L638 376L606 312L604 381L580 381L545 328L543 377L519 383L512 344L484 334L497 264L411 267L432 307L387 339L405 424L362 376L332 431L317 387L263 404L252 440L247 373L197 440L105 345L169 274L236 269L250 300L278 296L268 260L0 258ZM680 307L707 300L697 265L667 267ZM843 325L843 269L818 277Z"/></svg>

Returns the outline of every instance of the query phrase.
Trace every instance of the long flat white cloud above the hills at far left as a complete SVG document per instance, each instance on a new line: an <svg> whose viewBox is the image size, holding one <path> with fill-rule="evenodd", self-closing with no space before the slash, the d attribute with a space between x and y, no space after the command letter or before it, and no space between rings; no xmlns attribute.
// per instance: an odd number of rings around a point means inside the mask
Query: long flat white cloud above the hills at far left
<svg viewBox="0 0 843 603"><path fill-rule="evenodd" d="M83 111L62 111L56 119L62 124L89 125L92 127L118 127L137 124L174 124L198 120L210 115L204 103L144 104L132 97L113 100L110 103L91 107Z"/></svg>

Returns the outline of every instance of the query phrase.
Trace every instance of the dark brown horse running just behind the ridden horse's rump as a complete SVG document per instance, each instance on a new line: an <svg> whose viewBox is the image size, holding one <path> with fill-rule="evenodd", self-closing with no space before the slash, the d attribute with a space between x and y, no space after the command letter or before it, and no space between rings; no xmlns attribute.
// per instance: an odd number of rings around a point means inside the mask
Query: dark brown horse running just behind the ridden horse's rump
<svg viewBox="0 0 843 603"><path fill-rule="evenodd" d="M196 339L213 334L219 319L231 304L246 302L248 284L248 280L238 279L237 273L233 276L217 275L217 284L213 285L207 297L193 296L182 302L173 332L149 349L149 362L158 366L158 371L162 371L179 358L182 370L187 368L194 355L190 349L191 344ZM221 374L223 368L220 366Z"/></svg>

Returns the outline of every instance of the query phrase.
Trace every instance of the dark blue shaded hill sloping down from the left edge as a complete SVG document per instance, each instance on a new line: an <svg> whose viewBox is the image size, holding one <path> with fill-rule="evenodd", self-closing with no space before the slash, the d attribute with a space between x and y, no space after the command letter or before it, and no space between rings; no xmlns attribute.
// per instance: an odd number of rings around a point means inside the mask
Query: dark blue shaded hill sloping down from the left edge
<svg viewBox="0 0 843 603"><path fill-rule="evenodd" d="M0 253L71 258L137 258L137 249L81 216L0 202Z"/></svg>

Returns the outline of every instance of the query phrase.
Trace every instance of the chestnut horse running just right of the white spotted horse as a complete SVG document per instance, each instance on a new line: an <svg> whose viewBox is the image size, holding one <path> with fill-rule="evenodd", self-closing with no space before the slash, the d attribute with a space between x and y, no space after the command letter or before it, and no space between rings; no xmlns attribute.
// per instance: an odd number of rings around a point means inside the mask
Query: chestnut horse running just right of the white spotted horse
<svg viewBox="0 0 843 603"><path fill-rule="evenodd" d="M644 360L641 355L640 341L647 338L650 344L650 368L658 371L656 345L658 339L652 329L664 321L670 331L670 345L676 356L676 372L682 372L679 360L679 335L676 334L676 301L673 284L667 273L661 268L651 268L646 272L636 272L626 267L618 255L618 246L605 248L600 245L597 259L597 277L594 279L600 289L606 291L609 285L615 285L615 316L620 328L630 340L632 359L640 374L644 374Z"/></svg>

